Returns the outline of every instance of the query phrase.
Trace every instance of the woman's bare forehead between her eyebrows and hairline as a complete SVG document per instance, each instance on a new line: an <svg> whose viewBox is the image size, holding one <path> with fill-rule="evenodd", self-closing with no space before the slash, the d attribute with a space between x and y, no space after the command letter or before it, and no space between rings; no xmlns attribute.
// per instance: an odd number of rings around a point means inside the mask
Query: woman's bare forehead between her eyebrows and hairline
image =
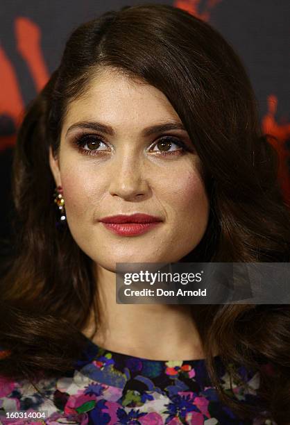
<svg viewBox="0 0 290 425"><path fill-rule="evenodd" d="M92 78L82 97L69 103L63 131L67 133L77 122L102 122L121 129L146 128L169 120L180 122L160 90L105 70Z"/></svg>

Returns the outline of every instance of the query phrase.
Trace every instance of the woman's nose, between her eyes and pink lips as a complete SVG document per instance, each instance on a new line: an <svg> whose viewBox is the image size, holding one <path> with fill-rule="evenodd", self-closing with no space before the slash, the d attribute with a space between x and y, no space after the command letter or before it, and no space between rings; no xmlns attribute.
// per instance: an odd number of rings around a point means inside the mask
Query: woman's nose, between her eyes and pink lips
<svg viewBox="0 0 290 425"><path fill-rule="evenodd" d="M110 170L110 194L125 201L144 199L149 192L149 187L142 160L130 154L119 160L115 159Z"/></svg>

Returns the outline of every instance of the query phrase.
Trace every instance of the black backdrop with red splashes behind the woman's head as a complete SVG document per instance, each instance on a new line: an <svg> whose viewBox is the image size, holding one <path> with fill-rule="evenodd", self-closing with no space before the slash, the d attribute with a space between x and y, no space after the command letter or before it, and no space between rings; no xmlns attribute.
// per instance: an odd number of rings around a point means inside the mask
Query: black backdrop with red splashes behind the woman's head
<svg viewBox="0 0 290 425"><path fill-rule="evenodd" d="M278 138L279 178L290 206L289 0L176 0L201 17L239 53L259 102L264 133ZM58 66L78 24L137 0L1 0L0 4L0 240L10 239L10 170L24 107ZM274 143L274 142L272 142ZM1 245L1 242L0 242ZM3 248L4 255L9 248ZM2 249L1 249L2 250Z"/></svg>

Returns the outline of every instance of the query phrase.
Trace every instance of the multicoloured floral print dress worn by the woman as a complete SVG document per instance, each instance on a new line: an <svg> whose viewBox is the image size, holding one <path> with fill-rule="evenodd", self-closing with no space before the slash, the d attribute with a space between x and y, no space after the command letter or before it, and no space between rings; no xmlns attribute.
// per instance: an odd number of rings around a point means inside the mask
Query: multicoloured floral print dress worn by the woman
<svg viewBox="0 0 290 425"><path fill-rule="evenodd" d="M221 358L221 383L241 403L255 405L259 373L240 367L232 384ZM241 385L241 382L244 385ZM210 383L205 360L147 360L105 350L89 339L75 369L37 383L0 377L0 424L277 425L238 419ZM46 412L44 419L7 418L7 412Z"/></svg>

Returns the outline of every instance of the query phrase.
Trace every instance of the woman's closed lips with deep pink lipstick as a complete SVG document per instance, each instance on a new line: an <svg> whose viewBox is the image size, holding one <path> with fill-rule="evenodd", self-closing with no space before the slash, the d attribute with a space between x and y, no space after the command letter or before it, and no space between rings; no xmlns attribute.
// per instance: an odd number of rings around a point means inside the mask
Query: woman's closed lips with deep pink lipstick
<svg viewBox="0 0 290 425"><path fill-rule="evenodd" d="M142 213L112 215L111 217L103 217L99 221L113 233L123 236L140 235L162 222L159 217Z"/></svg>

